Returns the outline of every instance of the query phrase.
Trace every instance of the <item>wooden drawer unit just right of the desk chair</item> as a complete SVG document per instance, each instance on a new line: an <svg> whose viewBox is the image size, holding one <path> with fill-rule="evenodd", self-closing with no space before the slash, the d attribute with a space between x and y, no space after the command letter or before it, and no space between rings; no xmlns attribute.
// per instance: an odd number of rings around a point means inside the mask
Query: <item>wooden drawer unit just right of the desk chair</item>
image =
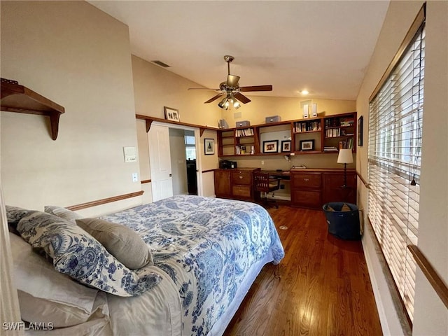
<svg viewBox="0 0 448 336"><path fill-rule="evenodd" d="M295 207L321 207L321 172L291 172L291 205Z"/></svg>

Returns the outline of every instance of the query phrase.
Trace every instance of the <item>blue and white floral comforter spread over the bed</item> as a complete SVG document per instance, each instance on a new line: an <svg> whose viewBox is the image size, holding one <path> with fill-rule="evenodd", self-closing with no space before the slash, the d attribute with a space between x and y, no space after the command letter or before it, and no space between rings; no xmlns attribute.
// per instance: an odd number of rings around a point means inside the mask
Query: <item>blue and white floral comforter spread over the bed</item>
<svg viewBox="0 0 448 336"><path fill-rule="evenodd" d="M183 335L207 335L251 265L284 256L272 218L249 202L178 195L102 218L151 247L155 266L179 289Z"/></svg>

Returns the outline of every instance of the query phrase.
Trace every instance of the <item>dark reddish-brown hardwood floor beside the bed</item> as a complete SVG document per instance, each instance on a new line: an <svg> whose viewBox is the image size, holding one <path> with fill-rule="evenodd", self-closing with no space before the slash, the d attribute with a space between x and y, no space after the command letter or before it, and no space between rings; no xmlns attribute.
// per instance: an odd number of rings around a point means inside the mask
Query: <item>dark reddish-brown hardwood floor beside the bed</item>
<svg viewBox="0 0 448 336"><path fill-rule="evenodd" d="M224 335L382 335L361 242L329 235L323 211L269 213L285 258L265 265Z"/></svg>

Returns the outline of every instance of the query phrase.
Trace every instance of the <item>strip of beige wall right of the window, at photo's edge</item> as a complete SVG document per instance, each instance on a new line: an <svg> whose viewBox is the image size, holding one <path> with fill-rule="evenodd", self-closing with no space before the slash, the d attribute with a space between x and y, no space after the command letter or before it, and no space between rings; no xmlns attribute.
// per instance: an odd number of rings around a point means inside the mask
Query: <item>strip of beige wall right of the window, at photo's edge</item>
<svg viewBox="0 0 448 336"><path fill-rule="evenodd" d="M419 248L448 285L448 2L426 10ZM448 308L420 269L415 307L413 335L448 335Z"/></svg>

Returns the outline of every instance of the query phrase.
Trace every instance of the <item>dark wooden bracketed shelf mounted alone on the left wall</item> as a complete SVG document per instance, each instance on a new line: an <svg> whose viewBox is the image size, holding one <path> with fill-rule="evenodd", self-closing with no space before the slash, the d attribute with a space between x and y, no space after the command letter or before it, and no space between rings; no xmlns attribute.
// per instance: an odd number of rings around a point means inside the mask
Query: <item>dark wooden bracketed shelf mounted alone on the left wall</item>
<svg viewBox="0 0 448 336"><path fill-rule="evenodd" d="M15 80L1 78L1 111L48 116L51 125L51 139L56 140L59 117L65 112L65 109L41 94L19 85Z"/></svg>

